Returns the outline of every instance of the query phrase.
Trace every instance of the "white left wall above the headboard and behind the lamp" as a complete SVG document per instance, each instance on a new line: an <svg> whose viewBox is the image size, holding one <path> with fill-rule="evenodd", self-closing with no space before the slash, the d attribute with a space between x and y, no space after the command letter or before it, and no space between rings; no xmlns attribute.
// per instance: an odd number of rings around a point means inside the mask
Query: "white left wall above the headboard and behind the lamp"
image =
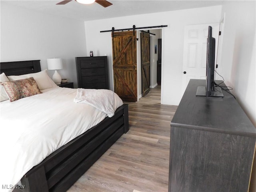
<svg viewBox="0 0 256 192"><path fill-rule="evenodd" d="M86 55L84 22L42 14L1 1L0 61L62 58L62 77L77 86L75 57ZM48 71L52 76L53 71Z"/></svg>

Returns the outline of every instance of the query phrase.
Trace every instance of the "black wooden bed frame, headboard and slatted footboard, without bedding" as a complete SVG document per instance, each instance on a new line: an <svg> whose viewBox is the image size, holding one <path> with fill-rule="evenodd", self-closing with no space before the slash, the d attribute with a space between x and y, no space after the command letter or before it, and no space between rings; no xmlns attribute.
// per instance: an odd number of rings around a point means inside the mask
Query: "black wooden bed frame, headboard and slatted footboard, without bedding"
<svg viewBox="0 0 256 192"><path fill-rule="evenodd" d="M4 72L6 76L40 71L40 60L0 63L0 73ZM21 179L21 184L25 185L22 191L68 190L128 130L128 104L123 104L112 118L106 117L29 170Z"/></svg>

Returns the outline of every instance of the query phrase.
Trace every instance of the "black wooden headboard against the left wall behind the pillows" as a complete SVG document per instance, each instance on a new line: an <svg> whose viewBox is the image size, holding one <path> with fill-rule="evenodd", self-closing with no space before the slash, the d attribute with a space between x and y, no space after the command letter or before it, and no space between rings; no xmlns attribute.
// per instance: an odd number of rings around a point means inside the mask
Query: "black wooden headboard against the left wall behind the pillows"
<svg viewBox="0 0 256 192"><path fill-rule="evenodd" d="M41 71L40 60L32 61L14 61L1 62L0 74L5 73L9 75L24 75L28 73L36 73Z"/></svg>

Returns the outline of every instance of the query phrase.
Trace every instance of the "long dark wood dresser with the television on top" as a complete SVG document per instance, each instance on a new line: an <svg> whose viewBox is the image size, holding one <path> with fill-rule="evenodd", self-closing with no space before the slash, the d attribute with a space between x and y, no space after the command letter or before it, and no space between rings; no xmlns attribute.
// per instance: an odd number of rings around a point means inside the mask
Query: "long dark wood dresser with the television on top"
<svg viewBox="0 0 256 192"><path fill-rule="evenodd" d="M190 80L172 119L168 191L247 192L256 128L226 91L196 96L205 84Z"/></svg>

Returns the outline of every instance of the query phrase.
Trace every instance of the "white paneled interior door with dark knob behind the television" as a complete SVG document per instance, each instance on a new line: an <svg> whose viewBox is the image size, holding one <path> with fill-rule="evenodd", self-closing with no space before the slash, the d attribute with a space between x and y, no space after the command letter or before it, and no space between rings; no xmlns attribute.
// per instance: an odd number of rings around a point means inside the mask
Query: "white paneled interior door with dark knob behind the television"
<svg viewBox="0 0 256 192"><path fill-rule="evenodd" d="M219 23L187 25L184 28L182 94L190 79L206 79L206 51L208 26L215 38L215 58L218 49ZM216 59L215 59L216 64Z"/></svg>

